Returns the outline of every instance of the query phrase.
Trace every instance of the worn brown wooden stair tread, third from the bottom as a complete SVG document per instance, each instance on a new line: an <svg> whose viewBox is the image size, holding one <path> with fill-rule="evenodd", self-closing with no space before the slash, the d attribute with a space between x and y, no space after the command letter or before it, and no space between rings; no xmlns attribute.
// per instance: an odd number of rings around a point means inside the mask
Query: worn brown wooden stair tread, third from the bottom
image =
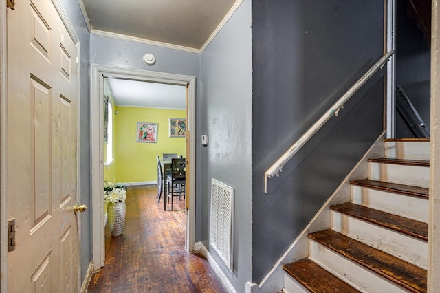
<svg viewBox="0 0 440 293"><path fill-rule="evenodd" d="M424 241L428 241L428 224L421 221L385 213L381 210L374 210L373 208L367 208L366 206L360 206L359 204L353 204L351 202L340 204L338 206L331 206L331 209Z"/></svg>

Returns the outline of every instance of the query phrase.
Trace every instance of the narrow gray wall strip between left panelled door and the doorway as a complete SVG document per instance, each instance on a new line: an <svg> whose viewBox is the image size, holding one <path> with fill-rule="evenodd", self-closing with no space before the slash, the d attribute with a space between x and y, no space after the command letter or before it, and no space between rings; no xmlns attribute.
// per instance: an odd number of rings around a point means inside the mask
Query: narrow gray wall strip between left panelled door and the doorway
<svg viewBox="0 0 440 293"><path fill-rule="evenodd" d="M90 198L90 38L78 1L61 0L61 5L80 40L80 204L91 206ZM91 260L91 212L81 217L81 281L84 280Z"/></svg>

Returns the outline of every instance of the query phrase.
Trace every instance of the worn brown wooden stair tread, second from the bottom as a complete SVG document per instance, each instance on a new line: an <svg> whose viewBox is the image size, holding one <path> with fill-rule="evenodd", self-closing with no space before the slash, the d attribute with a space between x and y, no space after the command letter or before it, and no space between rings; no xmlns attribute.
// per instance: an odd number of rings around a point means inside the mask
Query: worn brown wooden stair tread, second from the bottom
<svg viewBox="0 0 440 293"><path fill-rule="evenodd" d="M417 265L402 261L391 254L331 229L311 233L309 238L401 285L410 292L426 292L427 272Z"/></svg>

